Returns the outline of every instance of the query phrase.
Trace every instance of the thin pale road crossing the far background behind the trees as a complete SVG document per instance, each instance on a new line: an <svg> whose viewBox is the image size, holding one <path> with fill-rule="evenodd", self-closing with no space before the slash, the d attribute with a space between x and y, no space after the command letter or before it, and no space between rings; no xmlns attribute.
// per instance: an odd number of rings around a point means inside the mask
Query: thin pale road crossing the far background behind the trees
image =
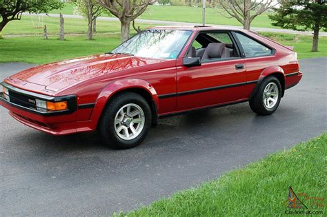
<svg viewBox="0 0 327 217"><path fill-rule="evenodd" d="M28 13L24 13L25 15L30 15ZM36 14L32 14L32 16L36 16ZM49 16L49 17L59 17L59 14L41 14L41 16ZM201 16L201 14L200 14ZM65 18L76 18L76 19L85 19L82 16L75 15L75 14L63 14ZM117 17L98 17L97 20L101 21L119 21ZM136 19L136 23L153 23L157 25L202 25L202 23L188 23L188 22L177 22L177 21L158 21L152 19ZM237 25L215 25L210 24L212 26L224 26L226 28L239 28L242 29L243 27ZM257 32L281 32L281 33L292 33L292 34L308 34L312 35L312 31L294 31L294 30L284 30L284 29L276 29L276 28L259 28L259 27L251 27L251 30ZM320 36L327 36L327 32L320 32Z"/></svg>

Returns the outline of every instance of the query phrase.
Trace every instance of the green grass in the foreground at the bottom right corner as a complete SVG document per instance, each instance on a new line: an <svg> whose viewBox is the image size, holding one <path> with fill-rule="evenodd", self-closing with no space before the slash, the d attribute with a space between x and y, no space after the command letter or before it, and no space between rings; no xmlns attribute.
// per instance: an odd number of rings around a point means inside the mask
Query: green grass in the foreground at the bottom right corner
<svg viewBox="0 0 327 217"><path fill-rule="evenodd" d="M218 180L178 192L117 216L286 216L288 187L313 211L324 211L326 201L327 133L293 148L267 156ZM306 194L306 196L304 194ZM318 202L324 207L316 208ZM303 210L303 209L302 209ZM323 215L315 215L323 216Z"/></svg>

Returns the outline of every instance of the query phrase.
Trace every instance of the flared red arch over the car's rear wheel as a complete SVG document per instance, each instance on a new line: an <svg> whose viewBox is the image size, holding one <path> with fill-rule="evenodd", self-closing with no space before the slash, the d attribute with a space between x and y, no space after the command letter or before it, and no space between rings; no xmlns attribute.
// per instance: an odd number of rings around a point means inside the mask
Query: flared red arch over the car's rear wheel
<svg viewBox="0 0 327 217"><path fill-rule="evenodd" d="M259 90L262 81L264 81L264 79L266 79L268 76L275 76L279 80L279 83L281 83L281 97L284 96L284 92L285 92L284 70L280 66L272 66L272 67L265 68L261 72L259 79L257 81L257 85L255 85L255 88L252 90L249 99L252 99L255 96L255 94Z"/></svg>

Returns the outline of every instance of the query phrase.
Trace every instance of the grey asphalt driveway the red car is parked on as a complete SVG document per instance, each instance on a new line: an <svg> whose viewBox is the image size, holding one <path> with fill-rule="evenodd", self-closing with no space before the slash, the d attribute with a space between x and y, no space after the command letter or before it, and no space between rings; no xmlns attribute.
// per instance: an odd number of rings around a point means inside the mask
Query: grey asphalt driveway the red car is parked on
<svg viewBox="0 0 327 217"><path fill-rule="evenodd" d="M111 150L97 134L54 137L0 108L0 216L108 216L219 177L327 130L327 58L301 61L304 78L271 116L248 103L161 119L143 145ZM29 65L0 65L0 78Z"/></svg>

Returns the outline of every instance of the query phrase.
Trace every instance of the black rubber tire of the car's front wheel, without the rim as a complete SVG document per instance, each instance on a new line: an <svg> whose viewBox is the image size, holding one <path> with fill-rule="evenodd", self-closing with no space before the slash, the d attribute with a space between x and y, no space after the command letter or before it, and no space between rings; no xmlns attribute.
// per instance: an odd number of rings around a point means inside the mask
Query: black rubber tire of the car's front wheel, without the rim
<svg viewBox="0 0 327 217"><path fill-rule="evenodd" d="M130 103L136 104L143 110L145 122L139 135L130 140L125 140L117 134L115 130L115 117L121 107ZM123 92L114 96L107 103L99 120L99 132L104 144L113 149L128 149L139 145L148 134L152 124L152 114L146 99L133 92Z"/></svg>

